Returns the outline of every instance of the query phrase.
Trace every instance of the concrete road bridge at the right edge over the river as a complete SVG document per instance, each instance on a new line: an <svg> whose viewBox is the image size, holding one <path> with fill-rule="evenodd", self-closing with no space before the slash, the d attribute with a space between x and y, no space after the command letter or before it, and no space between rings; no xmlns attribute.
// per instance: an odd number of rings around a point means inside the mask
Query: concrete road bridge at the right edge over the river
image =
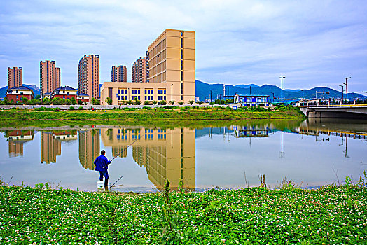
<svg viewBox="0 0 367 245"><path fill-rule="evenodd" d="M361 118L367 119L367 104L299 106L309 118Z"/></svg>

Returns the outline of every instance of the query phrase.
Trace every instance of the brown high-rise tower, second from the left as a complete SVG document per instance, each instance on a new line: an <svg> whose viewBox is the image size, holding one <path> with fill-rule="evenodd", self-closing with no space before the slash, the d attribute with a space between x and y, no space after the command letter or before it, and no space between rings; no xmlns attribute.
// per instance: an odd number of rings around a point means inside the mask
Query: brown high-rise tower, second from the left
<svg viewBox="0 0 367 245"><path fill-rule="evenodd" d="M60 67L55 61L45 60L39 62L39 83L42 94L53 92L60 87Z"/></svg>

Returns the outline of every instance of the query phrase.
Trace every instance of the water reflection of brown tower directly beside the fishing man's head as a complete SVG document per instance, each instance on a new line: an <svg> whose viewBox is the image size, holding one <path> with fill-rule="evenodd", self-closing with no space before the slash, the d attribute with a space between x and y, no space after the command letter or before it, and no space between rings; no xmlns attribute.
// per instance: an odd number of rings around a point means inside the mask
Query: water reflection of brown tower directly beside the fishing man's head
<svg viewBox="0 0 367 245"><path fill-rule="evenodd" d="M84 169L95 169L93 164L99 156L100 130L79 130L79 161Z"/></svg>

